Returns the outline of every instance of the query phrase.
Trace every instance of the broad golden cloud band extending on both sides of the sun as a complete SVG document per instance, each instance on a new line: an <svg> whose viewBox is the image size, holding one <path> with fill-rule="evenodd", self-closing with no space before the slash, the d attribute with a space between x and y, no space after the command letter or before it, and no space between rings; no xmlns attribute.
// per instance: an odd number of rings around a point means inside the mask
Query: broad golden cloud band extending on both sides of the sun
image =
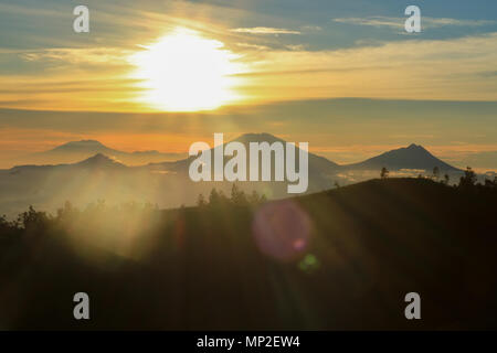
<svg viewBox="0 0 497 353"><path fill-rule="evenodd" d="M334 97L495 100L497 32L451 40L409 40L335 51L300 46L245 50L248 71L236 93L247 104ZM258 49L258 50L257 50ZM125 50L57 49L19 53L50 63L36 75L0 75L0 106L55 110L138 111ZM52 65L53 64L53 65ZM105 73L105 74L103 74ZM483 75L482 73L487 73ZM490 74L488 74L490 73ZM66 83L74 82L70 85ZM84 84L77 84L82 82ZM108 84L115 82L116 84Z"/></svg>

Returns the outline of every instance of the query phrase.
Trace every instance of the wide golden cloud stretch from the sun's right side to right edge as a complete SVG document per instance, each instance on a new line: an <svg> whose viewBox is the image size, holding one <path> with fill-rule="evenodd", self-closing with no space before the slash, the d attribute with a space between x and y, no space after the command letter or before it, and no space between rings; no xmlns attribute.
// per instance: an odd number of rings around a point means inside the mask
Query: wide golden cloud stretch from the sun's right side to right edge
<svg viewBox="0 0 497 353"><path fill-rule="evenodd" d="M251 62L248 96L495 100L497 33L335 51L273 50ZM296 75L298 74L298 79Z"/></svg>

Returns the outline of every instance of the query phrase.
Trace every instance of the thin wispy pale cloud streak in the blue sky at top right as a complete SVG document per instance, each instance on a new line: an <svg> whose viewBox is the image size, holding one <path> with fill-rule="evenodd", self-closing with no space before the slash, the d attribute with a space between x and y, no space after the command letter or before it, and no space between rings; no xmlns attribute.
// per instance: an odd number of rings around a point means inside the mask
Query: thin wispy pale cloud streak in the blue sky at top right
<svg viewBox="0 0 497 353"><path fill-rule="evenodd" d="M334 22L356 24L356 25L369 25L377 28L398 28L403 29L406 18L390 18L390 17L368 17L368 18L338 18L332 19ZM487 20L458 20L447 18L421 18L421 25L425 29L441 28L441 26L480 26L490 25L497 23L496 21Z"/></svg>

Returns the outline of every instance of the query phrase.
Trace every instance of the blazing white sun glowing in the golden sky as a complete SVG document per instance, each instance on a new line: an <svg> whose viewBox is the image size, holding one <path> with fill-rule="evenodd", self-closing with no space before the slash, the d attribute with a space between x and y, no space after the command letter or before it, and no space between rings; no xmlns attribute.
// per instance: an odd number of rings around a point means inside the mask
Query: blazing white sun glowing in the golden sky
<svg viewBox="0 0 497 353"><path fill-rule="evenodd" d="M131 56L133 77L145 88L139 100L165 111L212 110L237 100L237 58L220 41L176 29Z"/></svg>

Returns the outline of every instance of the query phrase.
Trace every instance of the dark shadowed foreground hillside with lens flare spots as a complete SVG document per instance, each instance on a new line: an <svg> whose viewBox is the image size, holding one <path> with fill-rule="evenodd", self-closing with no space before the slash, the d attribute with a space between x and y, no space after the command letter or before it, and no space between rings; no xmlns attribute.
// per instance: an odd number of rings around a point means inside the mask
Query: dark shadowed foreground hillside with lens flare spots
<svg viewBox="0 0 497 353"><path fill-rule="evenodd" d="M497 329L496 204L392 179L257 207L32 211L0 228L0 329Z"/></svg>

